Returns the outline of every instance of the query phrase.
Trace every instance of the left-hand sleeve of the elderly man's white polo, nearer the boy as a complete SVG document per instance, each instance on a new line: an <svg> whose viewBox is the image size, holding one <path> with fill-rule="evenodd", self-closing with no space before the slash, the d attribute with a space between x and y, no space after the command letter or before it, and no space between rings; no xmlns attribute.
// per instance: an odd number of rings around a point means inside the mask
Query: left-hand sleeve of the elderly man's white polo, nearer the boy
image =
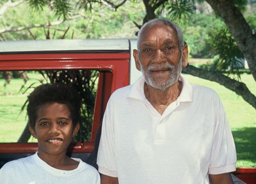
<svg viewBox="0 0 256 184"><path fill-rule="evenodd" d="M115 132L112 121L113 114L111 114L111 112L114 111L111 111L111 100L109 99L102 121L97 165L99 166L99 173L117 177L115 162Z"/></svg>

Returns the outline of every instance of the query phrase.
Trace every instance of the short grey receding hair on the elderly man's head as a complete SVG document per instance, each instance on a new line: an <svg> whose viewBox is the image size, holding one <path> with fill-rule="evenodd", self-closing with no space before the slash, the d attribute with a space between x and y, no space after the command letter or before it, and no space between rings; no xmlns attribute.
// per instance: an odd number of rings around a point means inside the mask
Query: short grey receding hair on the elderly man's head
<svg viewBox="0 0 256 184"><path fill-rule="evenodd" d="M159 24L162 24L164 26L169 26L171 27L172 29L174 29L177 33L177 36L178 36L178 44L179 44L179 49L181 50L182 47L184 46L184 40L183 40L183 35L182 35L182 32L181 32L181 29L180 27L173 23L172 21L170 20L166 20L166 19L152 19L152 20L149 20L148 22L146 22L141 28L140 28L140 31L138 33L138 42L137 42L137 49L139 49L140 45L140 36L141 36L141 33L144 31L144 29L146 27L154 27L154 26L157 26Z"/></svg>

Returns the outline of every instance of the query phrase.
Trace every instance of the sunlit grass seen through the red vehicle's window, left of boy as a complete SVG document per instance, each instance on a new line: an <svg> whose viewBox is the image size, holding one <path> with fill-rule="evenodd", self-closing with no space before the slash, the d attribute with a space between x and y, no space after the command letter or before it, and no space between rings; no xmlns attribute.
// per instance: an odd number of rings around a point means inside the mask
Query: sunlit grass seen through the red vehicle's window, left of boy
<svg viewBox="0 0 256 184"><path fill-rule="evenodd" d="M0 142L17 142L26 126L26 109L23 112L20 110L33 88L28 91L26 89L32 84L40 85L38 80L43 78L38 73L28 73L28 76L29 81L24 88L22 88L23 79L12 79L5 87L4 79L0 79ZM35 142L34 139L29 139L29 142L31 141Z"/></svg>

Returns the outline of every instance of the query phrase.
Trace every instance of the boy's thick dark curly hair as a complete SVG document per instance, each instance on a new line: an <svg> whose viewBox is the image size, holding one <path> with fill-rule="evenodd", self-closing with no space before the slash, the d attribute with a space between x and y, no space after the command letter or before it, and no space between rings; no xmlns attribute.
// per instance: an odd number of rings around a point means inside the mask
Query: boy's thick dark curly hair
<svg viewBox="0 0 256 184"><path fill-rule="evenodd" d="M72 119L73 127L79 122L81 98L76 89L63 83L43 84L35 88L28 96L28 121L31 128L35 128L38 118L38 109L45 104L67 105Z"/></svg>

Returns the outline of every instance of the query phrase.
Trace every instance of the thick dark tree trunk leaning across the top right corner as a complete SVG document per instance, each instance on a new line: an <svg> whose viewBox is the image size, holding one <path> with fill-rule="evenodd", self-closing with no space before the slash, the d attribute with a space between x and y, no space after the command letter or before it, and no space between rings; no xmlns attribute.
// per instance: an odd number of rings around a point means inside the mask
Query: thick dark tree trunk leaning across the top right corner
<svg viewBox="0 0 256 184"><path fill-rule="evenodd" d="M205 0L219 15L228 27L228 31L237 42L239 49L243 52L248 66L256 81L256 35L244 19L242 13L237 9L232 0Z"/></svg>

